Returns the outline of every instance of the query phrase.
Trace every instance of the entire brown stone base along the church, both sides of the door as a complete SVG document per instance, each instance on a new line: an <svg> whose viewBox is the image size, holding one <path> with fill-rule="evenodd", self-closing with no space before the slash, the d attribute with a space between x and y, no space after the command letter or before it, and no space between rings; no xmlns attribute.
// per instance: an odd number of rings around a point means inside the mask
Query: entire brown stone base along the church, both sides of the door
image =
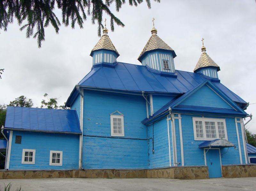
<svg viewBox="0 0 256 191"><path fill-rule="evenodd" d="M225 178L256 176L256 165L222 166ZM208 179L207 166L178 166L150 170L66 170L66 171L0 171L0 179L31 178L170 178L170 179Z"/></svg>

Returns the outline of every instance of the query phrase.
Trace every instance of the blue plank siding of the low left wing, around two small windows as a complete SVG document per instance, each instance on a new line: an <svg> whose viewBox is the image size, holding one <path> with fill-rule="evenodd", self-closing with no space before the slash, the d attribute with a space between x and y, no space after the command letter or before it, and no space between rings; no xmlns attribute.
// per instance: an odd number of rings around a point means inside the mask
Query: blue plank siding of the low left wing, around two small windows
<svg viewBox="0 0 256 191"><path fill-rule="evenodd" d="M15 143L21 136L21 144ZM35 149L35 164L21 164L22 150ZM50 151L63 151L62 166L50 166ZM13 131L10 170L78 169L79 135Z"/></svg>

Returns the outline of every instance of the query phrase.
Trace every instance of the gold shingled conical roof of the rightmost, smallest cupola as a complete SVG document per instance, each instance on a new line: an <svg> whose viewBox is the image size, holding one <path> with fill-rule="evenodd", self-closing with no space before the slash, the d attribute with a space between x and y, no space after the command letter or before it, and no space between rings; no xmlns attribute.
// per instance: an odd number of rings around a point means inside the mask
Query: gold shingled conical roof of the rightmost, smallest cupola
<svg viewBox="0 0 256 191"><path fill-rule="evenodd" d="M196 70L200 69L200 68L204 68L204 67L209 67L209 66L213 66L213 67L217 67L217 71L220 71L220 66L218 66L218 64L216 64L212 58L207 55L206 53L206 48L203 46L202 48L202 54L196 64L196 67L194 69L194 72L196 72Z"/></svg>

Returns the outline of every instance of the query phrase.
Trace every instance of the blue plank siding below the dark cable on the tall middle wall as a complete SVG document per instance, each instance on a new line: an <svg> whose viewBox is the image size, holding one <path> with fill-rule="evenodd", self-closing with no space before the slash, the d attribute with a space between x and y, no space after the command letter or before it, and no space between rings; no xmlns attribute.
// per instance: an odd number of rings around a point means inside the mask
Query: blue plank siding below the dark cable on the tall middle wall
<svg viewBox="0 0 256 191"><path fill-rule="evenodd" d="M84 137L83 168L145 169L147 140Z"/></svg>

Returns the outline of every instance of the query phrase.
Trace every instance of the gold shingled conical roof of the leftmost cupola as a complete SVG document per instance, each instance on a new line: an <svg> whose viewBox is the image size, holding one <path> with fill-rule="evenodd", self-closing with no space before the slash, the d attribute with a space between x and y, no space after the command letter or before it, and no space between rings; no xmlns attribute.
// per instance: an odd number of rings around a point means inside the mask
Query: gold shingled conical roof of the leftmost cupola
<svg viewBox="0 0 256 191"><path fill-rule="evenodd" d="M116 52L117 57L119 56L119 53L117 52L115 46L113 45L112 41L110 40L110 38L108 36L108 29L106 27L103 29L103 35L100 38L100 40L98 41L98 43L95 45L95 47L92 49L90 56L92 56L92 53L95 50L100 50L100 49L112 50L112 51Z"/></svg>

